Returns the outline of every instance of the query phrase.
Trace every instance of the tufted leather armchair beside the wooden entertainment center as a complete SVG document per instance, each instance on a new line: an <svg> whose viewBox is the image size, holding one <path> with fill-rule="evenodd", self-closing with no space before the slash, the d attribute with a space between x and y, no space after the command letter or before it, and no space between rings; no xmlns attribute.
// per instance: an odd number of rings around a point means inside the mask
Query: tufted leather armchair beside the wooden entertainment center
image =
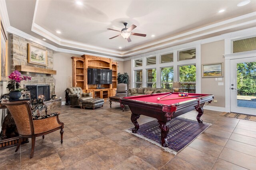
<svg viewBox="0 0 256 170"><path fill-rule="evenodd" d="M66 91L70 97L70 107L79 106L82 109L82 101L93 98L91 93L83 93L80 87L69 87Z"/></svg>

